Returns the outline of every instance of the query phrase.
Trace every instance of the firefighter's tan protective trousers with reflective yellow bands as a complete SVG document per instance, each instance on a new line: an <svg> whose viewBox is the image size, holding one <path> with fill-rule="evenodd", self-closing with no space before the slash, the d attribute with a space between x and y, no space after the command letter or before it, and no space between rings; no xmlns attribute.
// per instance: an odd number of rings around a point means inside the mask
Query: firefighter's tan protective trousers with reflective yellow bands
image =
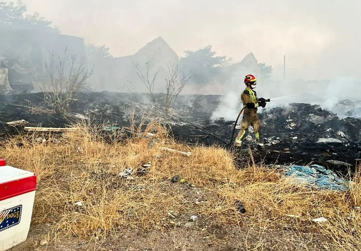
<svg viewBox="0 0 361 251"><path fill-rule="evenodd" d="M253 130L255 131L256 135L256 141L258 142L258 145L261 146L261 148L264 147L263 144L263 132L261 130L261 120L258 117L257 114L257 108L255 109L245 109L243 111L243 118L241 122L241 130L239 131L236 140L235 145L236 146L242 146L242 140L245 136L248 134L248 127L251 125L253 127Z"/></svg>

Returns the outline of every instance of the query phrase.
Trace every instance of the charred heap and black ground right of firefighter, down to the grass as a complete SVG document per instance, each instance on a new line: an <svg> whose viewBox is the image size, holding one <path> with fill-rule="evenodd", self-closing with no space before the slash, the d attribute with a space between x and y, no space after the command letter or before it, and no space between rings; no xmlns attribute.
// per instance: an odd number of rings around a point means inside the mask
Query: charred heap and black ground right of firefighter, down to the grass
<svg viewBox="0 0 361 251"><path fill-rule="evenodd" d="M339 118L318 105L292 103L266 110L262 123L268 145L280 153L283 161L290 154L290 159L303 163L347 169L360 160L361 120L358 118Z"/></svg>

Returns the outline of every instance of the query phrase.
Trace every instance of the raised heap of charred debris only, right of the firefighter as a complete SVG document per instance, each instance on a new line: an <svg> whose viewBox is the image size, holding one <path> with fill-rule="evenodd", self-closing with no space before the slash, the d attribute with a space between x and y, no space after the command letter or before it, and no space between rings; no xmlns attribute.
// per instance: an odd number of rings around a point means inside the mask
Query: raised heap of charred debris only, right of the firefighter
<svg viewBox="0 0 361 251"><path fill-rule="evenodd" d="M297 137L297 141L313 143L361 142L361 120L339 118L318 105L291 103L262 113L263 128L282 139ZM288 140L288 139L287 139Z"/></svg>

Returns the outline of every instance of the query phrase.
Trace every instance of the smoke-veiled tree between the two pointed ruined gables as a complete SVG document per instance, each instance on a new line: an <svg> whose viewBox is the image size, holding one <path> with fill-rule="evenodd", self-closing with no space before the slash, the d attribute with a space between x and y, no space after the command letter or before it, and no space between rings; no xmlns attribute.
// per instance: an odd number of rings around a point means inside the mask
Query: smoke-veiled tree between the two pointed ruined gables
<svg viewBox="0 0 361 251"><path fill-rule="evenodd" d="M220 68L230 61L226 56L217 56L211 45L184 52L186 56L179 59L180 72L191 72L192 81L197 84L208 84L217 78Z"/></svg>

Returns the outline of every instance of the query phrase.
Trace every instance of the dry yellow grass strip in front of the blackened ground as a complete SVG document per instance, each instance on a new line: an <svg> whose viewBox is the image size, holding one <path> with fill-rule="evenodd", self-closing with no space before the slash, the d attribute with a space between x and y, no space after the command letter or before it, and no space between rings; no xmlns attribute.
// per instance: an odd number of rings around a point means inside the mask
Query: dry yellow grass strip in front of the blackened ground
<svg viewBox="0 0 361 251"><path fill-rule="evenodd" d="M320 232L329 235L339 250L361 248L361 210L353 210L361 204L360 172L348 192L310 190L293 184L277 169L252 162L236 170L227 150L177 144L157 124L146 129L156 134L151 148L152 139L144 137L146 133L125 141L117 141L122 132L114 133L109 143L101 136L102 128L77 127L81 129L66 133L61 142L43 134L47 141L39 143L39 134L29 134L12 139L0 149L0 156L10 165L38 175L33 222L55 223L54 233L99 237L118 227L162 229L197 213L217 224L247 220L264 229ZM192 154L169 153L161 146ZM152 166L147 175L134 175L131 180L118 176L128 167L136 172L149 161ZM186 179L193 190L171 184L169 179L174 175ZM196 192L201 194L201 201L192 198ZM235 200L243 203L245 214L238 212ZM75 205L77 201L83 206ZM318 217L329 221L312 222Z"/></svg>

